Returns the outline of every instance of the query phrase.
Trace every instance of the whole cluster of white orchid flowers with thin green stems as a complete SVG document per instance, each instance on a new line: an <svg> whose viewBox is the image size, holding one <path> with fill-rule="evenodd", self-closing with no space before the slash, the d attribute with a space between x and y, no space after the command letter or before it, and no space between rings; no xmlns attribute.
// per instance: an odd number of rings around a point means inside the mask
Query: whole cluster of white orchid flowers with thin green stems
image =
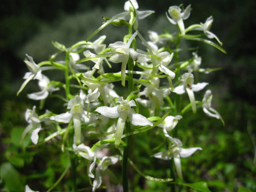
<svg viewBox="0 0 256 192"><path fill-rule="evenodd" d="M30 81L38 80L40 91L27 96L39 100L40 107L27 109L25 120L28 126L22 138L30 135L34 146L39 146L59 136L60 148L62 151L68 149L71 162L78 159L85 162L92 191L101 186L103 174L112 165L122 163L124 172L128 162L135 168L128 153L130 135L136 137L138 133L154 129L154 139L159 139L159 143L161 138L166 138L168 147L161 148L148 158L174 161L177 176L182 180L181 157L186 158L202 150L201 147L183 148L182 141L176 138L179 135L173 129L177 129L175 127L183 120L183 114L196 113L202 109L207 116L224 123L217 110L211 107L211 90L206 90L202 98L194 94L203 92L208 85L206 82L195 82L195 73L209 73L216 69L200 68L202 59L197 52L190 53L187 60L179 60L179 52L183 51L181 40L205 42L225 52L220 47L222 43L219 38L209 31L212 16L205 23L186 26L184 20L190 16L191 5L185 9L171 6L166 17L170 25L177 25L177 31L158 35L158 32L148 30L146 36L140 33L139 20L152 17L154 11L138 11L138 8L136 0L126 1L125 12L104 18L102 26L86 40L70 48L53 42L58 52L51 55L49 60L36 63L28 55L27 60L24 60L29 72L25 73L25 81L17 95ZM107 36L99 36L95 41L89 41L109 24L127 27L128 33L124 34L123 40L105 45ZM192 31L193 35L190 34ZM220 46L211 41L213 38ZM137 48L138 41L141 41L140 48ZM63 54L64 59L59 59ZM117 68L117 72L105 72L111 71L112 67ZM65 77L65 81L50 80L43 74L46 70L55 70ZM177 107L178 95L181 96L179 98L187 99L182 110ZM49 97L62 103L63 113L46 110L41 114ZM72 141L71 145L68 140ZM128 188L125 182L128 177L127 174L122 175L125 190ZM171 182L175 175L162 180ZM32 190L26 186L25 191Z"/></svg>

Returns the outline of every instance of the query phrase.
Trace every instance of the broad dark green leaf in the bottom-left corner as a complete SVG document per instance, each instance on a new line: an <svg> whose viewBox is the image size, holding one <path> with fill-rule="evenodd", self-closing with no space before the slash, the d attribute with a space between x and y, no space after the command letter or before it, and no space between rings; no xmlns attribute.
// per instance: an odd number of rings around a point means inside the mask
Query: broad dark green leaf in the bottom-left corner
<svg viewBox="0 0 256 192"><path fill-rule="evenodd" d="M12 192L23 192L25 179L13 168L11 163L3 163L0 169L0 176L5 183L5 187Z"/></svg>

